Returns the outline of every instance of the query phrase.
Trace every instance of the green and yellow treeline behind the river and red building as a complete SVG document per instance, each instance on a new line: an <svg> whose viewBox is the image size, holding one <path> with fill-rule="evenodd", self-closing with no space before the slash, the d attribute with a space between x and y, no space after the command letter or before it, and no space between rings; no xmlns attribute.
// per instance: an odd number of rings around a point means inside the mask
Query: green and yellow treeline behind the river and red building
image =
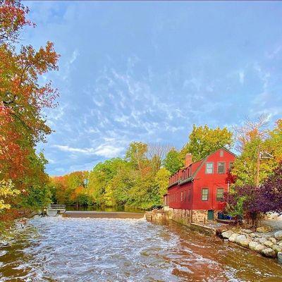
<svg viewBox="0 0 282 282"><path fill-rule="evenodd" d="M257 175L258 149L273 159L262 161L259 183L262 183L282 160L282 120L273 130L265 128L266 117L245 121L234 128L193 126L182 149L161 144L130 143L125 157L109 159L92 171L75 171L51 178L52 201L65 204L98 204L108 207L131 206L149 209L162 204L168 178L184 166L185 155L198 161L216 149L235 146L240 153L233 164L236 185L254 185Z"/></svg>

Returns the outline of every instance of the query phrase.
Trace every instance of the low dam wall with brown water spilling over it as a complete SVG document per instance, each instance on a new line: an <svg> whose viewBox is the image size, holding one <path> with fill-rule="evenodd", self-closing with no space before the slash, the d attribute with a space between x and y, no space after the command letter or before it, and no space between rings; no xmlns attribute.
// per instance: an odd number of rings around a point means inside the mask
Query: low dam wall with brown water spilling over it
<svg viewBox="0 0 282 282"><path fill-rule="evenodd" d="M142 212L65 212L63 217L90 217L93 219L142 219Z"/></svg>

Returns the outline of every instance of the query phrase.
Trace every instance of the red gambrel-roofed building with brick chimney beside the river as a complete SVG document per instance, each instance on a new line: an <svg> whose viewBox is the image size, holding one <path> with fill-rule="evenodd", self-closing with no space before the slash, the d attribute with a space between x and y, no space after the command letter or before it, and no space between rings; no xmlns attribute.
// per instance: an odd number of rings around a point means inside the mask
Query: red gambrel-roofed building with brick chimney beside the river
<svg viewBox="0 0 282 282"><path fill-rule="evenodd" d="M190 216L190 221L214 219L214 212L221 210L223 192L228 192L229 171L235 154L222 148L204 159L192 163L187 154L185 168L169 178L165 205ZM187 211L188 214L187 214Z"/></svg>

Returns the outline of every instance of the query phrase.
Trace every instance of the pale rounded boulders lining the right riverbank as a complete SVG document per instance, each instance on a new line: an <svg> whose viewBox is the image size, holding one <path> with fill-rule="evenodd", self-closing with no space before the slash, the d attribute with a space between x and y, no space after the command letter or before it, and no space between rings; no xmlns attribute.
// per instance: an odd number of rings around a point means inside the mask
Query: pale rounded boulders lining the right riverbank
<svg viewBox="0 0 282 282"><path fill-rule="evenodd" d="M259 228L257 232L234 228L222 231L221 236L231 243L246 247L264 257L277 258L278 263L282 264L282 231L264 232L265 230Z"/></svg>

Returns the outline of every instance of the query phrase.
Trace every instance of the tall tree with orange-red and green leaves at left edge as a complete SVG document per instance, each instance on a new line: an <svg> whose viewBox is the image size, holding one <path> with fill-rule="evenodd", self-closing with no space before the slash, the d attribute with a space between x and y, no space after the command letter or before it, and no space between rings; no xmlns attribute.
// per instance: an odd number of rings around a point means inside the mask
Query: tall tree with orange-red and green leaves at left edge
<svg viewBox="0 0 282 282"><path fill-rule="evenodd" d="M48 179L35 145L51 133L42 109L56 106L58 93L39 78L58 68L59 55L51 42L39 50L16 45L23 27L34 26L27 13L20 1L0 0L0 179L12 180L28 198Z"/></svg>

